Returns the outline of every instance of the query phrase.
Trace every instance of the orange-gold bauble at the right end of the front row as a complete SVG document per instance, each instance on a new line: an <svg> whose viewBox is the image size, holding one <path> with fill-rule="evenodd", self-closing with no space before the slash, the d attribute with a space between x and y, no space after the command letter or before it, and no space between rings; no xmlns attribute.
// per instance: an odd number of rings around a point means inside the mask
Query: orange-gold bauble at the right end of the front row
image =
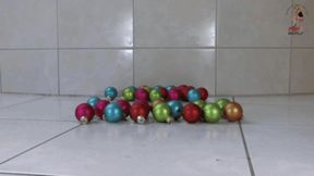
<svg viewBox="0 0 314 176"><path fill-rule="evenodd" d="M229 102L224 108L224 113L229 122L240 121L243 117L243 109L237 102Z"/></svg>

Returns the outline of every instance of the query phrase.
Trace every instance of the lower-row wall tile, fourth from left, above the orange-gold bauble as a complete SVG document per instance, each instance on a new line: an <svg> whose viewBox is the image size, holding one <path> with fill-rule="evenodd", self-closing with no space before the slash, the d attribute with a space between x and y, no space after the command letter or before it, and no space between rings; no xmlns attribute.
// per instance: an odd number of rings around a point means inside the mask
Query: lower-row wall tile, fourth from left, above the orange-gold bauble
<svg viewBox="0 0 314 176"><path fill-rule="evenodd" d="M218 95L289 93L288 49L218 49Z"/></svg>

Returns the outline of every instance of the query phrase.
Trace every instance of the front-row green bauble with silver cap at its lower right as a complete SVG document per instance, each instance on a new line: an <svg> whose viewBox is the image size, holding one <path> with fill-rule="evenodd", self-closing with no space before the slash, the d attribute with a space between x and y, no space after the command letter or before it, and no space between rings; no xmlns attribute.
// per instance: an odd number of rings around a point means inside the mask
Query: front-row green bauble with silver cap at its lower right
<svg viewBox="0 0 314 176"><path fill-rule="evenodd" d="M158 103L153 109L153 116L158 123L171 123L171 109L166 103Z"/></svg>

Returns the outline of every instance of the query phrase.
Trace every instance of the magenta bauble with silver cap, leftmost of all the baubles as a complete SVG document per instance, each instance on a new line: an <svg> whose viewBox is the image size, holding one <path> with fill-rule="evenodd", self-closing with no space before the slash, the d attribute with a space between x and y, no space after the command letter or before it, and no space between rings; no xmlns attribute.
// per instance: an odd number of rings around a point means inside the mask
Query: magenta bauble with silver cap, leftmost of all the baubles
<svg viewBox="0 0 314 176"><path fill-rule="evenodd" d="M75 109L75 116L78 122L82 124L89 123L95 115L95 111L92 105L87 103L82 103Z"/></svg>

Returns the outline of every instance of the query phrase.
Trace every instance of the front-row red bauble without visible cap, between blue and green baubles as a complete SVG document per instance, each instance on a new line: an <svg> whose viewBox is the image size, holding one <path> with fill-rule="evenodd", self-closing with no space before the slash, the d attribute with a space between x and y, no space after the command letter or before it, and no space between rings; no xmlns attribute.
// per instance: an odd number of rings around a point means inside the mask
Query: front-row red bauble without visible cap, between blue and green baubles
<svg viewBox="0 0 314 176"><path fill-rule="evenodd" d="M188 123L196 123L201 121L201 117L202 110L198 105L190 103L183 108L183 118Z"/></svg>

